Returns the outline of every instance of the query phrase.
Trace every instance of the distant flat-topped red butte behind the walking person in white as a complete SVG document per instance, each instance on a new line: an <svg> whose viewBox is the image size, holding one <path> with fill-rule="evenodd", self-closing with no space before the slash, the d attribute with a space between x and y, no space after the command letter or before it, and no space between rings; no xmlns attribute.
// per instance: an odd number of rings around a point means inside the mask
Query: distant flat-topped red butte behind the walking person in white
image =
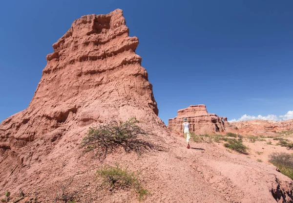
<svg viewBox="0 0 293 203"><path fill-rule="evenodd" d="M191 105L186 109L177 111L175 118L170 118L168 128L172 131L182 132L183 118L187 118L190 131L199 134L221 133L225 131L236 131L237 129L230 125L226 117L220 117L214 113L208 113L206 105Z"/></svg>

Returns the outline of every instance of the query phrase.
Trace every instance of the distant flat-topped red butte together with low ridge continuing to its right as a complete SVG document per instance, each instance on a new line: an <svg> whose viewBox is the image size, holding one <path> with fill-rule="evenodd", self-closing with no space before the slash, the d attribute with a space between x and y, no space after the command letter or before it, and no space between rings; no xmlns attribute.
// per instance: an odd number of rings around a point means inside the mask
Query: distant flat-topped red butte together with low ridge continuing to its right
<svg viewBox="0 0 293 203"><path fill-rule="evenodd" d="M282 131L293 130L293 119L286 121L248 120L230 123L227 117L208 113L206 106L191 105L178 110L175 118L170 118L168 128L171 131L182 132L183 118L190 123L190 131L196 134L238 133L241 135L277 135Z"/></svg>

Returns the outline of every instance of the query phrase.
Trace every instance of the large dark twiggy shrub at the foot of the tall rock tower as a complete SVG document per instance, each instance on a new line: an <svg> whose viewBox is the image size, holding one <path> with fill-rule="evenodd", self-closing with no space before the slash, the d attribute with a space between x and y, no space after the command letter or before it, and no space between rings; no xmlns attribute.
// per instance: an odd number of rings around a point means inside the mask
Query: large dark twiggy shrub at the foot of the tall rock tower
<svg viewBox="0 0 293 203"><path fill-rule="evenodd" d="M99 158L105 158L119 147L123 147L127 153L152 149L150 142L141 139L151 134L141 129L137 123L139 121L136 118L130 118L125 122L111 121L99 128L91 127L83 138L81 147L84 147L85 152L95 150Z"/></svg>

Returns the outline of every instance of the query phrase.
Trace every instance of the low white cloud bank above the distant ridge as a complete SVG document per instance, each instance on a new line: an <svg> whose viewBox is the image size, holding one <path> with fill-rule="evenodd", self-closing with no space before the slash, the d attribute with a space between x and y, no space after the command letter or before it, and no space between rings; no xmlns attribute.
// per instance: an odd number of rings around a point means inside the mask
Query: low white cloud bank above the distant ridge
<svg viewBox="0 0 293 203"><path fill-rule="evenodd" d="M238 119L235 119L234 118L232 120L229 120L229 122L232 123L232 122L237 122L237 121L255 120L255 119L260 119L260 120L274 120L274 121L290 120L290 119L293 119L293 111L289 111L285 115L280 115L280 116L276 116L276 115L273 115L273 114L270 114L270 115L267 115L267 116L262 116L262 115L254 116L254 115L244 114L244 115L242 115Z"/></svg>

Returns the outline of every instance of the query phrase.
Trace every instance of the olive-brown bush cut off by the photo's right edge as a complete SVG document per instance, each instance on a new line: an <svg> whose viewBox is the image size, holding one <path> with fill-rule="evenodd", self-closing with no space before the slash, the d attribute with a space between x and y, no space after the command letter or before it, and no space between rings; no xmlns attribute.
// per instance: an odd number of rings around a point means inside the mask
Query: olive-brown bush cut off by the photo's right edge
<svg viewBox="0 0 293 203"><path fill-rule="evenodd" d="M272 153L269 161L278 167L282 174L293 179L293 155L282 152Z"/></svg>

